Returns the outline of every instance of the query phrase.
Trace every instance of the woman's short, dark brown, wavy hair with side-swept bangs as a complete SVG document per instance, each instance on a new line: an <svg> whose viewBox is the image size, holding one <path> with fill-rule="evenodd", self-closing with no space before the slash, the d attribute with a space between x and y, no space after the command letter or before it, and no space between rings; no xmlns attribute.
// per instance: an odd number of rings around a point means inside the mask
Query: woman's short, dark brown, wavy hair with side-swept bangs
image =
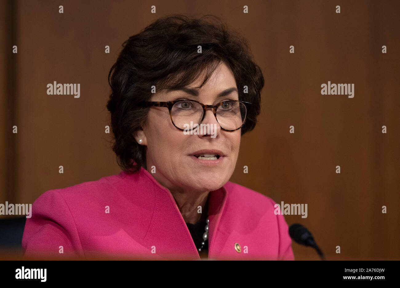
<svg viewBox="0 0 400 288"><path fill-rule="evenodd" d="M202 53L197 52L199 45ZM139 145L134 134L147 121L149 107L138 104L149 101L151 87L154 85L157 92L181 89L206 70L203 82L196 87L200 88L221 61L233 72L239 100L252 103L241 134L255 127L264 77L247 40L217 16L198 19L173 14L159 18L129 37L122 47L108 74L112 92L107 109L114 134L112 149L123 171L133 173L146 167L146 146ZM244 86L248 93L244 93Z"/></svg>

